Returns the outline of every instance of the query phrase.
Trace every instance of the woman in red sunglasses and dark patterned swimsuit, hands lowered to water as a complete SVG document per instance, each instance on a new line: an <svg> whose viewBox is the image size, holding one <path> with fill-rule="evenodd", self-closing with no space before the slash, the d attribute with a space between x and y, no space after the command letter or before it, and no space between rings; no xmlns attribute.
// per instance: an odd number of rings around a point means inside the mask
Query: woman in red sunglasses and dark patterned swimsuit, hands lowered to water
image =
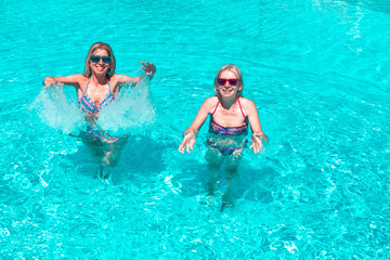
<svg viewBox="0 0 390 260"><path fill-rule="evenodd" d="M262 148L262 141L268 141L261 129L259 115L255 103L242 96L244 88L240 69L233 64L221 67L214 79L214 96L208 98L199 108L193 123L184 131L183 142L179 152L184 154L193 150L196 133L210 115L209 133L207 136L208 152L206 159L210 172L207 187L212 196L218 180L216 174L223 161L226 162L226 188L222 195L221 210L230 204L229 193L232 178L238 167L242 152L246 146L246 134L250 125L252 131L251 145L257 154Z"/></svg>

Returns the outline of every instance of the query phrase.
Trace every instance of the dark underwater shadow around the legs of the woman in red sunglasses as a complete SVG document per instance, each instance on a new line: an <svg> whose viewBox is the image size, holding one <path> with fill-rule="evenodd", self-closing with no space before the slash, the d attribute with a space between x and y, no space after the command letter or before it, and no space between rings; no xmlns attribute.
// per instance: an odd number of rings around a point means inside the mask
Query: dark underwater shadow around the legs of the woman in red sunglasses
<svg viewBox="0 0 390 260"><path fill-rule="evenodd" d="M262 160L262 164L265 162ZM237 200L260 202L262 204L272 203L272 188L277 185L276 179L281 176L271 166L253 166L249 159L240 161L237 172L231 180L226 174L224 166L222 166L219 172L211 174L208 172L207 162L203 161L203 159L199 161L199 158L186 159L185 164L181 164L179 167L180 173L172 178L172 183L181 184L181 195L184 197L198 196L202 204L220 208L220 211L224 210L222 207L222 196L229 191L227 185L230 185L229 200L233 207L239 207L239 202ZM208 181L210 178L216 183L213 196L208 196Z"/></svg>

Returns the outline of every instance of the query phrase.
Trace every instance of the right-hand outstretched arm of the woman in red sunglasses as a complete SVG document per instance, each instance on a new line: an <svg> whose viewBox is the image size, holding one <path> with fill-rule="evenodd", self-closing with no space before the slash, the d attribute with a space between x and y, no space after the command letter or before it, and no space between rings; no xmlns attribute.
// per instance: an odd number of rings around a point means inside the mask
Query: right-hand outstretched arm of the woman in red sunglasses
<svg viewBox="0 0 390 260"><path fill-rule="evenodd" d="M247 106L245 108L248 113L248 120L252 130L251 145L249 150L253 148L253 153L258 154L262 148L262 142L260 138L262 136L264 141L268 142L268 136L261 129L259 114L255 103L248 100Z"/></svg>

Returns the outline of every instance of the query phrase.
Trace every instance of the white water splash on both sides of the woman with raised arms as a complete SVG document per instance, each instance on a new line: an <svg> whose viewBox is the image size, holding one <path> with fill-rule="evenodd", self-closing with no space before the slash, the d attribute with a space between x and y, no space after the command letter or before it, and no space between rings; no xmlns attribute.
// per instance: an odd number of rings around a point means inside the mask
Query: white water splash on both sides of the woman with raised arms
<svg viewBox="0 0 390 260"><path fill-rule="evenodd" d="M104 106L99 113L98 129L113 135L142 133L155 121L155 108L148 99L148 80L136 87L123 86L116 101ZM63 133L78 135L86 131L84 114L70 92L74 89L56 83L42 89L31 108L41 120Z"/></svg>

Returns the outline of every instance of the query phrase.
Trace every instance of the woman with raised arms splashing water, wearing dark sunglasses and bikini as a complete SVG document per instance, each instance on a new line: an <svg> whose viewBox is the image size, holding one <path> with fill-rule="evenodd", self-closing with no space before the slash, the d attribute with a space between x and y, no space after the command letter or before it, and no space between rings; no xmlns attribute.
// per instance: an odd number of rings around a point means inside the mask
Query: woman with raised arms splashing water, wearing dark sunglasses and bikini
<svg viewBox="0 0 390 260"><path fill-rule="evenodd" d="M79 136L100 164L101 174L104 165L117 165L127 136L112 136L96 129L99 110L114 101L123 86L135 86L143 78L148 80L153 78L156 66L148 62L142 62L142 65L145 74L140 77L115 74L116 61L112 48L107 43L96 42L91 46L87 54L83 74L46 77L43 80L44 88L55 83L76 88L79 106L86 114L86 120L90 122L87 131Z"/></svg>

